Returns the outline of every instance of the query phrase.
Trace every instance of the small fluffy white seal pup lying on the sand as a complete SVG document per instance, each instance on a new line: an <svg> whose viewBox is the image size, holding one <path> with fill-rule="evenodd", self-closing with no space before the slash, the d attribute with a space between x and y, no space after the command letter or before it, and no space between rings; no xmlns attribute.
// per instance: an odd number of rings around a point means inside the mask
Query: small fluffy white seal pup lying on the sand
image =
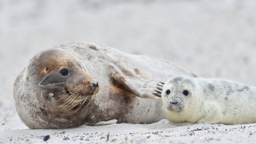
<svg viewBox="0 0 256 144"><path fill-rule="evenodd" d="M256 87L228 80L174 77L164 84L162 101L172 123L256 123Z"/></svg>

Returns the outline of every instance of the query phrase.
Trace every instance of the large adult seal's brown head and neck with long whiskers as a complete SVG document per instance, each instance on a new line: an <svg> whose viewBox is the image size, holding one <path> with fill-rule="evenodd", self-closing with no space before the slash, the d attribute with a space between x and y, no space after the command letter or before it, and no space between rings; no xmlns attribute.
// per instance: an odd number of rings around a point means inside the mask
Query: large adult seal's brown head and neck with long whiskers
<svg viewBox="0 0 256 144"><path fill-rule="evenodd" d="M17 112L29 128L62 128L63 123L65 127L79 125L72 122L77 118L72 116L98 91L98 83L78 59L50 49L29 61L16 78L13 96Z"/></svg>

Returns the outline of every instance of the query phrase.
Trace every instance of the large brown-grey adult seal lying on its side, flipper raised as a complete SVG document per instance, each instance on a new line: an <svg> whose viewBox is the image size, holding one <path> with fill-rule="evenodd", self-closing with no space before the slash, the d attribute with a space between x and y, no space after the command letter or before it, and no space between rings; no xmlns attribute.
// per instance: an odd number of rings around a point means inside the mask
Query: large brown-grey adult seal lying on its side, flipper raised
<svg viewBox="0 0 256 144"><path fill-rule="evenodd" d="M192 76L168 61L74 42L37 53L17 76L13 97L18 115L31 129L113 119L153 123L165 118L157 100L158 79L178 75Z"/></svg>

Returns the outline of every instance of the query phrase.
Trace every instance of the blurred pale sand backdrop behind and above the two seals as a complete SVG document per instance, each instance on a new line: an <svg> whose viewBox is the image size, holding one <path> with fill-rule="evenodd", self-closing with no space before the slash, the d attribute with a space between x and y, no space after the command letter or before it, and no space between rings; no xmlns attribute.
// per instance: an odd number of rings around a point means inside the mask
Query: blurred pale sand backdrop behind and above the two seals
<svg viewBox="0 0 256 144"><path fill-rule="evenodd" d="M0 0L0 130L26 128L12 84L28 60L72 41L256 85L254 0Z"/></svg>

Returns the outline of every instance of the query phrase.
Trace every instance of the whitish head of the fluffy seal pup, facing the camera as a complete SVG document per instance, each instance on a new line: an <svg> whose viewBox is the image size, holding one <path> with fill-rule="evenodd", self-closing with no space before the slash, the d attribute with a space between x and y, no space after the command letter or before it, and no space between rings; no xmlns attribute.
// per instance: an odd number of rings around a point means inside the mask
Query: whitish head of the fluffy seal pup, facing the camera
<svg viewBox="0 0 256 144"><path fill-rule="evenodd" d="M162 92L163 109L172 123L194 121L198 110L197 83L188 76L174 77L164 84Z"/></svg>

